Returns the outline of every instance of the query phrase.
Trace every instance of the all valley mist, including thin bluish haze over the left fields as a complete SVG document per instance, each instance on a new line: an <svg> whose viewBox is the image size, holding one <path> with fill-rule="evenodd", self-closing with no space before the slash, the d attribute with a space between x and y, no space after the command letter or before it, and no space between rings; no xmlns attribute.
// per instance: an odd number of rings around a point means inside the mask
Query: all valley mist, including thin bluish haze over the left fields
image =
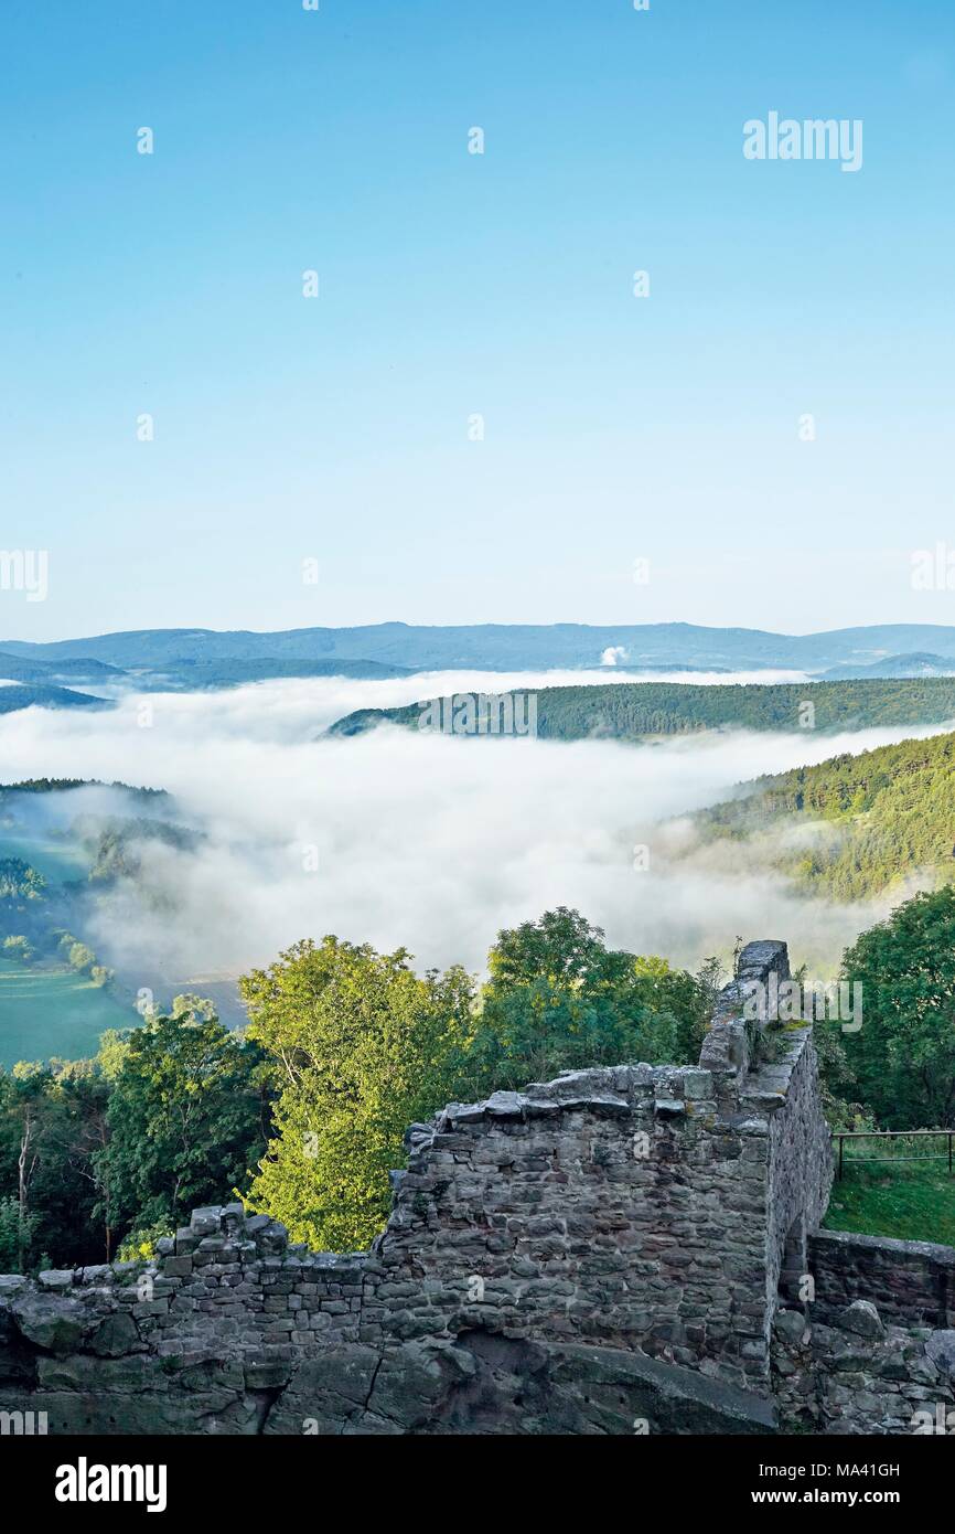
<svg viewBox="0 0 955 1534"><path fill-rule="evenodd" d="M610 690L665 681L633 686L619 672ZM682 673L667 690L753 696L762 707L793 683L791 672L760 673L754 686L753 673L713 670ZM891 907L889 894L842 900L808 891L765 841L716 845L691 816L731 799L740 782L943 724L720 726L639 744L605 729L461 741L386 716L368 733L334 732L350 715L414 712L426 696L573 689L586 701L589 689L596 698L607 687L605 667L311 676L212 692L127 689L107 712L29 707L5 716L5 784L97 779L164 793L146 802L109 787L6 795L0 854L38 868L48 896L60 891L78 937L112 976L98 991L75 980L72 1002L57 991L43 1011L44 988L63 977L37 965L31 1025L8 1026L6 1045L0 1035L3 1062L12 1063L11 1051L21 1057L34 1029L35 1058L75 1052L81 1042L92 1048L100 1026L136 1020L132 1008L144 994L162 1006L178 992L210 996L235 1025L244 1016L238 976L325 933L405 948L418 969L460 962L480 973L501 927L556 905L584 911L613 945L674 963L713 953L725 960L736 934L759 928L785 931L819 973L832 969ZM911 707L918 712L918 698ZM8 913L8 930L11 922ZM6 957L3 974L0 1008L25 1017L26 971Z"/></svg>

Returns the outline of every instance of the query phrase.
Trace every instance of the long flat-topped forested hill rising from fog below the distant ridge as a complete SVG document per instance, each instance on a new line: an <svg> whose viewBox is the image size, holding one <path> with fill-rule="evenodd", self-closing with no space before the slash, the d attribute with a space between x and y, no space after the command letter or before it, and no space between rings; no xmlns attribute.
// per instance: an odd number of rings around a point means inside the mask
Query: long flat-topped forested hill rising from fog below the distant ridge
<svg viewBox="0 0 955 1534"><path fill-rule="evenodd" d="M955 676L714 687L609 683L541 687L535 696L537 735L553 741L636 741L647 735L730 727L838 730L955 719ZM331 733L359 735L382 723L417 727L429 701L405 709L362 709L339 719Z"/></svg>

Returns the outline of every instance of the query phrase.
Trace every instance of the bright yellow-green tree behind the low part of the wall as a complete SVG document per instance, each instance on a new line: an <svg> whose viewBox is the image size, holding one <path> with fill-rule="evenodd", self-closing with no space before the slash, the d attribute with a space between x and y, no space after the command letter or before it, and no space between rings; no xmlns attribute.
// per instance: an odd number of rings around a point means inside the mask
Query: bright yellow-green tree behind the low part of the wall
<svg viewBox="0 0 955 1534"><path fill-rule="evenodd" d="M417 976L408 959L325 937L241 980L248 1035L281 1094L248 1204L311 1247L368 1246L388 1215L405 1129L454 1095L472 982L460 968Z"/></svg>

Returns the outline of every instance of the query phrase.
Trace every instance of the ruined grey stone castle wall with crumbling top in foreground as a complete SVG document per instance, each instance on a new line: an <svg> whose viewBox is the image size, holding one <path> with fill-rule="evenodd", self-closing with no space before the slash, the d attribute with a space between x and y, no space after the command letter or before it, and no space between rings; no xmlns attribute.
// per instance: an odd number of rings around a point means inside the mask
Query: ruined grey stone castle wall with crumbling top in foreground
<svg viewBox="0 0 955 1534"><path fill-rule="evenodd" d="M743 950L699 1066L572 1072L412 1124L369 1252L311 1253L227 1204L155 1264L0 1278L6 1430L955 1427L955 1250L820 1233L811 1028L743 1016L748 982L788 973L785 943Z"/></svg>

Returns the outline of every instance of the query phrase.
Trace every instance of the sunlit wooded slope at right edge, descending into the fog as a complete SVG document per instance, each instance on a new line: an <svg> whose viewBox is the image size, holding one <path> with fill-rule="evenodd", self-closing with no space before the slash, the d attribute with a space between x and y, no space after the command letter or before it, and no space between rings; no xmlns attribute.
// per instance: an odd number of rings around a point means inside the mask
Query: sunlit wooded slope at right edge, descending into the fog
<svg viewBox="0 0 955 1534"><path fill-rule="evenodd" d="M947 882L955 876L955 735L762 778L694 819L704 839L750 841L756 859L837 899L877 894L914 874ZM765 834L812 824L819 834L808 844Z"/></svg>

